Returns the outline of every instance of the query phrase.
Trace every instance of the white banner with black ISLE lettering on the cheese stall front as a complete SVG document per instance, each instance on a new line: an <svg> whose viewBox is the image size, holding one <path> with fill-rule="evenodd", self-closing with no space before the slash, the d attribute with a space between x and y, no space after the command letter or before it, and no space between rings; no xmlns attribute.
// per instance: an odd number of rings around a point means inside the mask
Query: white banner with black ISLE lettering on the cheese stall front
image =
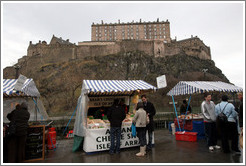
<svg viewBox="0 0 246 166"><path fill-rule="evenodd" d="M146 133L148 142L148 137ZM121 127L121 145L120 148L139 146L138 137L132 137L131 126ZM152 144L154 144L154 133ZM110 148L110 128L86 129L83 150L85 152L96 152L109 150Z"/></svg>

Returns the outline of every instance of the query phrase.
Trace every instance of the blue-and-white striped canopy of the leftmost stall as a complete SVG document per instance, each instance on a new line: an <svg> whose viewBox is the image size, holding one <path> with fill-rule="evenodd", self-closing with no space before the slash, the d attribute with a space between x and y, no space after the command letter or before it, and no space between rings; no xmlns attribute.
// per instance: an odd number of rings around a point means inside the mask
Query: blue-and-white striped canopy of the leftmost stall
<svg viewBox="0 0 246 166"><path fill-rule="evenodd" d="M32 78L28 78L21 91L14 90L18 79L3 79L3 95L4 97L39 97L40 93Z"/></svg>

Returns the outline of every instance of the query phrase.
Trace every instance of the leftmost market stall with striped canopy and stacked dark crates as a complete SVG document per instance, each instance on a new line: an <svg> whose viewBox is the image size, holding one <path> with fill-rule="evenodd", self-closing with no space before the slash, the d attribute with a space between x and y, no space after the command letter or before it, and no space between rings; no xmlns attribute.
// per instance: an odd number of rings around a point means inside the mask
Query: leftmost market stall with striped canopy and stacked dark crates
<svg viewBox="0 0 246 166"><path fill-rule="evenodd" d="M2 116L4 128L8 128L7 114L15 109L16 104L26 102L30 119L28 122L25 161L43 160L45 154L45 125L41 125L40 122L48 120L49 116L40 100L40 93L33 79L24 78L22 84L19 84L18 81L19 79L3 79ZM5 136L3 138L8 139ZM6 155L5 150L4 155Z"/></svg>

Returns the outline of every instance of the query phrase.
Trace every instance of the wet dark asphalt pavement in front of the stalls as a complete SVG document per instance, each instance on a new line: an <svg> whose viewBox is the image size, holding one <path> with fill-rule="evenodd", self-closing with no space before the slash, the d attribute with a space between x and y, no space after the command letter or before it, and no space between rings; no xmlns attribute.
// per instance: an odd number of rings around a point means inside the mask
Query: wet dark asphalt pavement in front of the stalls
<svg viewBox="0 0 246 166"><path fill-rule="evenodd" d="M241 155L225 154L221 150L209 152L204 139L176 141L167 129L155 131L155 146L144 157L135 156L139 152L137 147L122 149L114 155L108 151L87 154L83 150L72 152L73 139L57 140L57 143L56 150L46 151L44 160L33 163L243 163L243 152Z"/></svg>

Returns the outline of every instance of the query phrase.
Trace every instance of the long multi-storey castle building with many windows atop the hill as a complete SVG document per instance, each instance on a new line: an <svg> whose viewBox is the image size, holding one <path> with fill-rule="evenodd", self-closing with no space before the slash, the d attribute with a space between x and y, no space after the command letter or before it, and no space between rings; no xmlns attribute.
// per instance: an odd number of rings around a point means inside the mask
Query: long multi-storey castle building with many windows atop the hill
<svg viewBox="0 0 246 166"><path fill-rule="evenodd" d="M170 43L169 21L153 21L131 23L103 23L91 25L91 41L117 41L125 39L162 40Z"/></svg>

